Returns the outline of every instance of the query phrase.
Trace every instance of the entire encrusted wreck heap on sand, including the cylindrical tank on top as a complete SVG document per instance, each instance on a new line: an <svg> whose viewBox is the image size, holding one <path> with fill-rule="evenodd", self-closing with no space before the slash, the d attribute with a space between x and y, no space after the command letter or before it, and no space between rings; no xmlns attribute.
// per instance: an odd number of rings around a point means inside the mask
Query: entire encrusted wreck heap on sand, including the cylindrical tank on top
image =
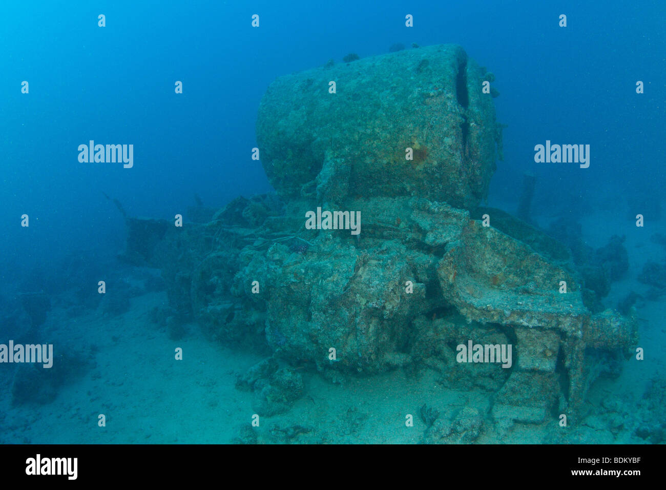
<svg viewBox="0 0 666 490"><path fill-rule="evenodd" d="M575 423L591 383L631 355L636 323L599 306L603 263L482 206L501 159L493 80L457 45L280 77L256 123L276 194L199 203L182 227L126 217L123 259L161 269L167 323L265 351L238 379L259 415L304 395L303 366L332 383L426 367L492 393L501 427ZM306 226L318 209L360 213L360 233L343 214ZM458 362L470 341L511 345L513 362Z"/></svg>

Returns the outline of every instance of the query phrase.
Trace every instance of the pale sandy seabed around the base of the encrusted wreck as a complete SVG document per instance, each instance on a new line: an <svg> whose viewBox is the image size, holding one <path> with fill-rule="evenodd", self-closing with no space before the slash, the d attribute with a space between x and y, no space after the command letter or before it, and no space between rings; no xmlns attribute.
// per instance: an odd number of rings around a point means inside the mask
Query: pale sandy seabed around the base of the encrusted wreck
<svg viewBox="0 0 666 490"><path fill-rule="evenodd" d="M663 223L631 229L633 222L609 211L583 218L582 225L584 239L593 247L605 245L613 234L627 237L629 272L613 283L605 304L617 304L632 290L647 291L636 278L646 261L662 261L666 255L650 241L657 225L665 229ZM82 348L94 344L96 366L46 405L12 407L11 377L3 377L0 442L418 443L427 429L418 415L424 403L448 418L463 407L484 415L492 403L488 392L444 387L442 375L430 369L348 377L342 385L302 371L305 395L290 411L260 417L259 427L251 428L254 395L239 391L235 383L262 357L208 341L194 324L187 325L182 340L172 341L165 327L151 321L151 309L164 304L166 293L147 293L135 297L119 317L88 313L71 318L67 311L53 309L43 325L45 337L56 348L58 337ZM634 433L645 414L645 388L651 379L666 377L666 304L658 299L637 307L645 360L626 361L619 377L599 379L579 423L563 428L552 417L500 430L486 417L475 442L645 443ZM180 361L174 359L176 347L182 347ZM98 425L99 414L106 416L105 427ZM407 414L414 416L413 427L405 424ZM248 431L254 434L248 437Z"/></svg>

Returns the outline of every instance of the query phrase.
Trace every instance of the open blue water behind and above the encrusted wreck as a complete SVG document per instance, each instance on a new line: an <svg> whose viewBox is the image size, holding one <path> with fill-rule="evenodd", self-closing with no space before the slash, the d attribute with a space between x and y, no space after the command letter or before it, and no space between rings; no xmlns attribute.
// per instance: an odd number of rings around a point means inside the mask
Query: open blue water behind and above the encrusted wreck
<svg viewBox="0 0 666 490"><path fill-rule="evenodd" d="M258 28L250 25L254 13ZM404 25L407 13L414 16L412 28ZM565 28L558 26L561 13ZM98 26L99 14L105 27ZM125 247L125 223L105 195L128 215L172 219L195 194L222 207L237 195L272 191L260 161L251 158L268 85L348 53L387 53L394 43L458 43L495 74L497 119L507 127L490 205L513 211L522 175L530 171L537 177L533 206L544 216L557 206L590 215L601 202L632 197L663 207L665 18L666 3L659 0L7 3L0 15L3 318L20 293L67 289L71 277L62 264L73 255L90 269L117 267L126 275L126 266L115 262ZM639 80L643 94L635 91ZM22 81L29 83L27 94ZM182 94L174 93L176 81ZM589 144L589 169L536 164L533 147L547 139ZM77 147L89 140L133 144L133 168L79 163ZM29 227L21 227L23 214ZM598 247L614 233L631 232L633 222L625 231L608 229L601 217L589 226ZM646 243L653 233L666 231L651 229ZM632 279L641 267L632 263ZM69 340L69 322L58 321L59 339ZM0 325L0 343L7 335ZM87 337L102 349L106 338L99 331ZM132 377L148 369L129 362L123 369ZM0 364L3 391L12 377L10 366ZM57 417L40 405L14 410L0 421L14 427L5 442L23 441L17 436L23 415ZM29 440L93 441L92 435L63 439L58 425L52 427ZM134 428L115 430L109 441L133 441ZM196 427L191 431L191 439L180 441L204 440Z"/></svg>

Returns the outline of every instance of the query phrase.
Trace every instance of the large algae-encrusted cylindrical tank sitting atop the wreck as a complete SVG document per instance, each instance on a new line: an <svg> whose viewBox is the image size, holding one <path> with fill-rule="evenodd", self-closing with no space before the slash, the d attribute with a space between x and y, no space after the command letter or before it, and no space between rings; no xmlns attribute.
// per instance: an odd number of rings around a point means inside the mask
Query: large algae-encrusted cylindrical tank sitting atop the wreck
<svg viewBox="0 0 666 490"><path fill-rule="evenodd" d="M286 198L340 181L318 197L342 205L346 195L418 196L476 207L500 138L492 97L481 93L488 77L457 45L280 77L256 123L266 175Z"/></svg>

